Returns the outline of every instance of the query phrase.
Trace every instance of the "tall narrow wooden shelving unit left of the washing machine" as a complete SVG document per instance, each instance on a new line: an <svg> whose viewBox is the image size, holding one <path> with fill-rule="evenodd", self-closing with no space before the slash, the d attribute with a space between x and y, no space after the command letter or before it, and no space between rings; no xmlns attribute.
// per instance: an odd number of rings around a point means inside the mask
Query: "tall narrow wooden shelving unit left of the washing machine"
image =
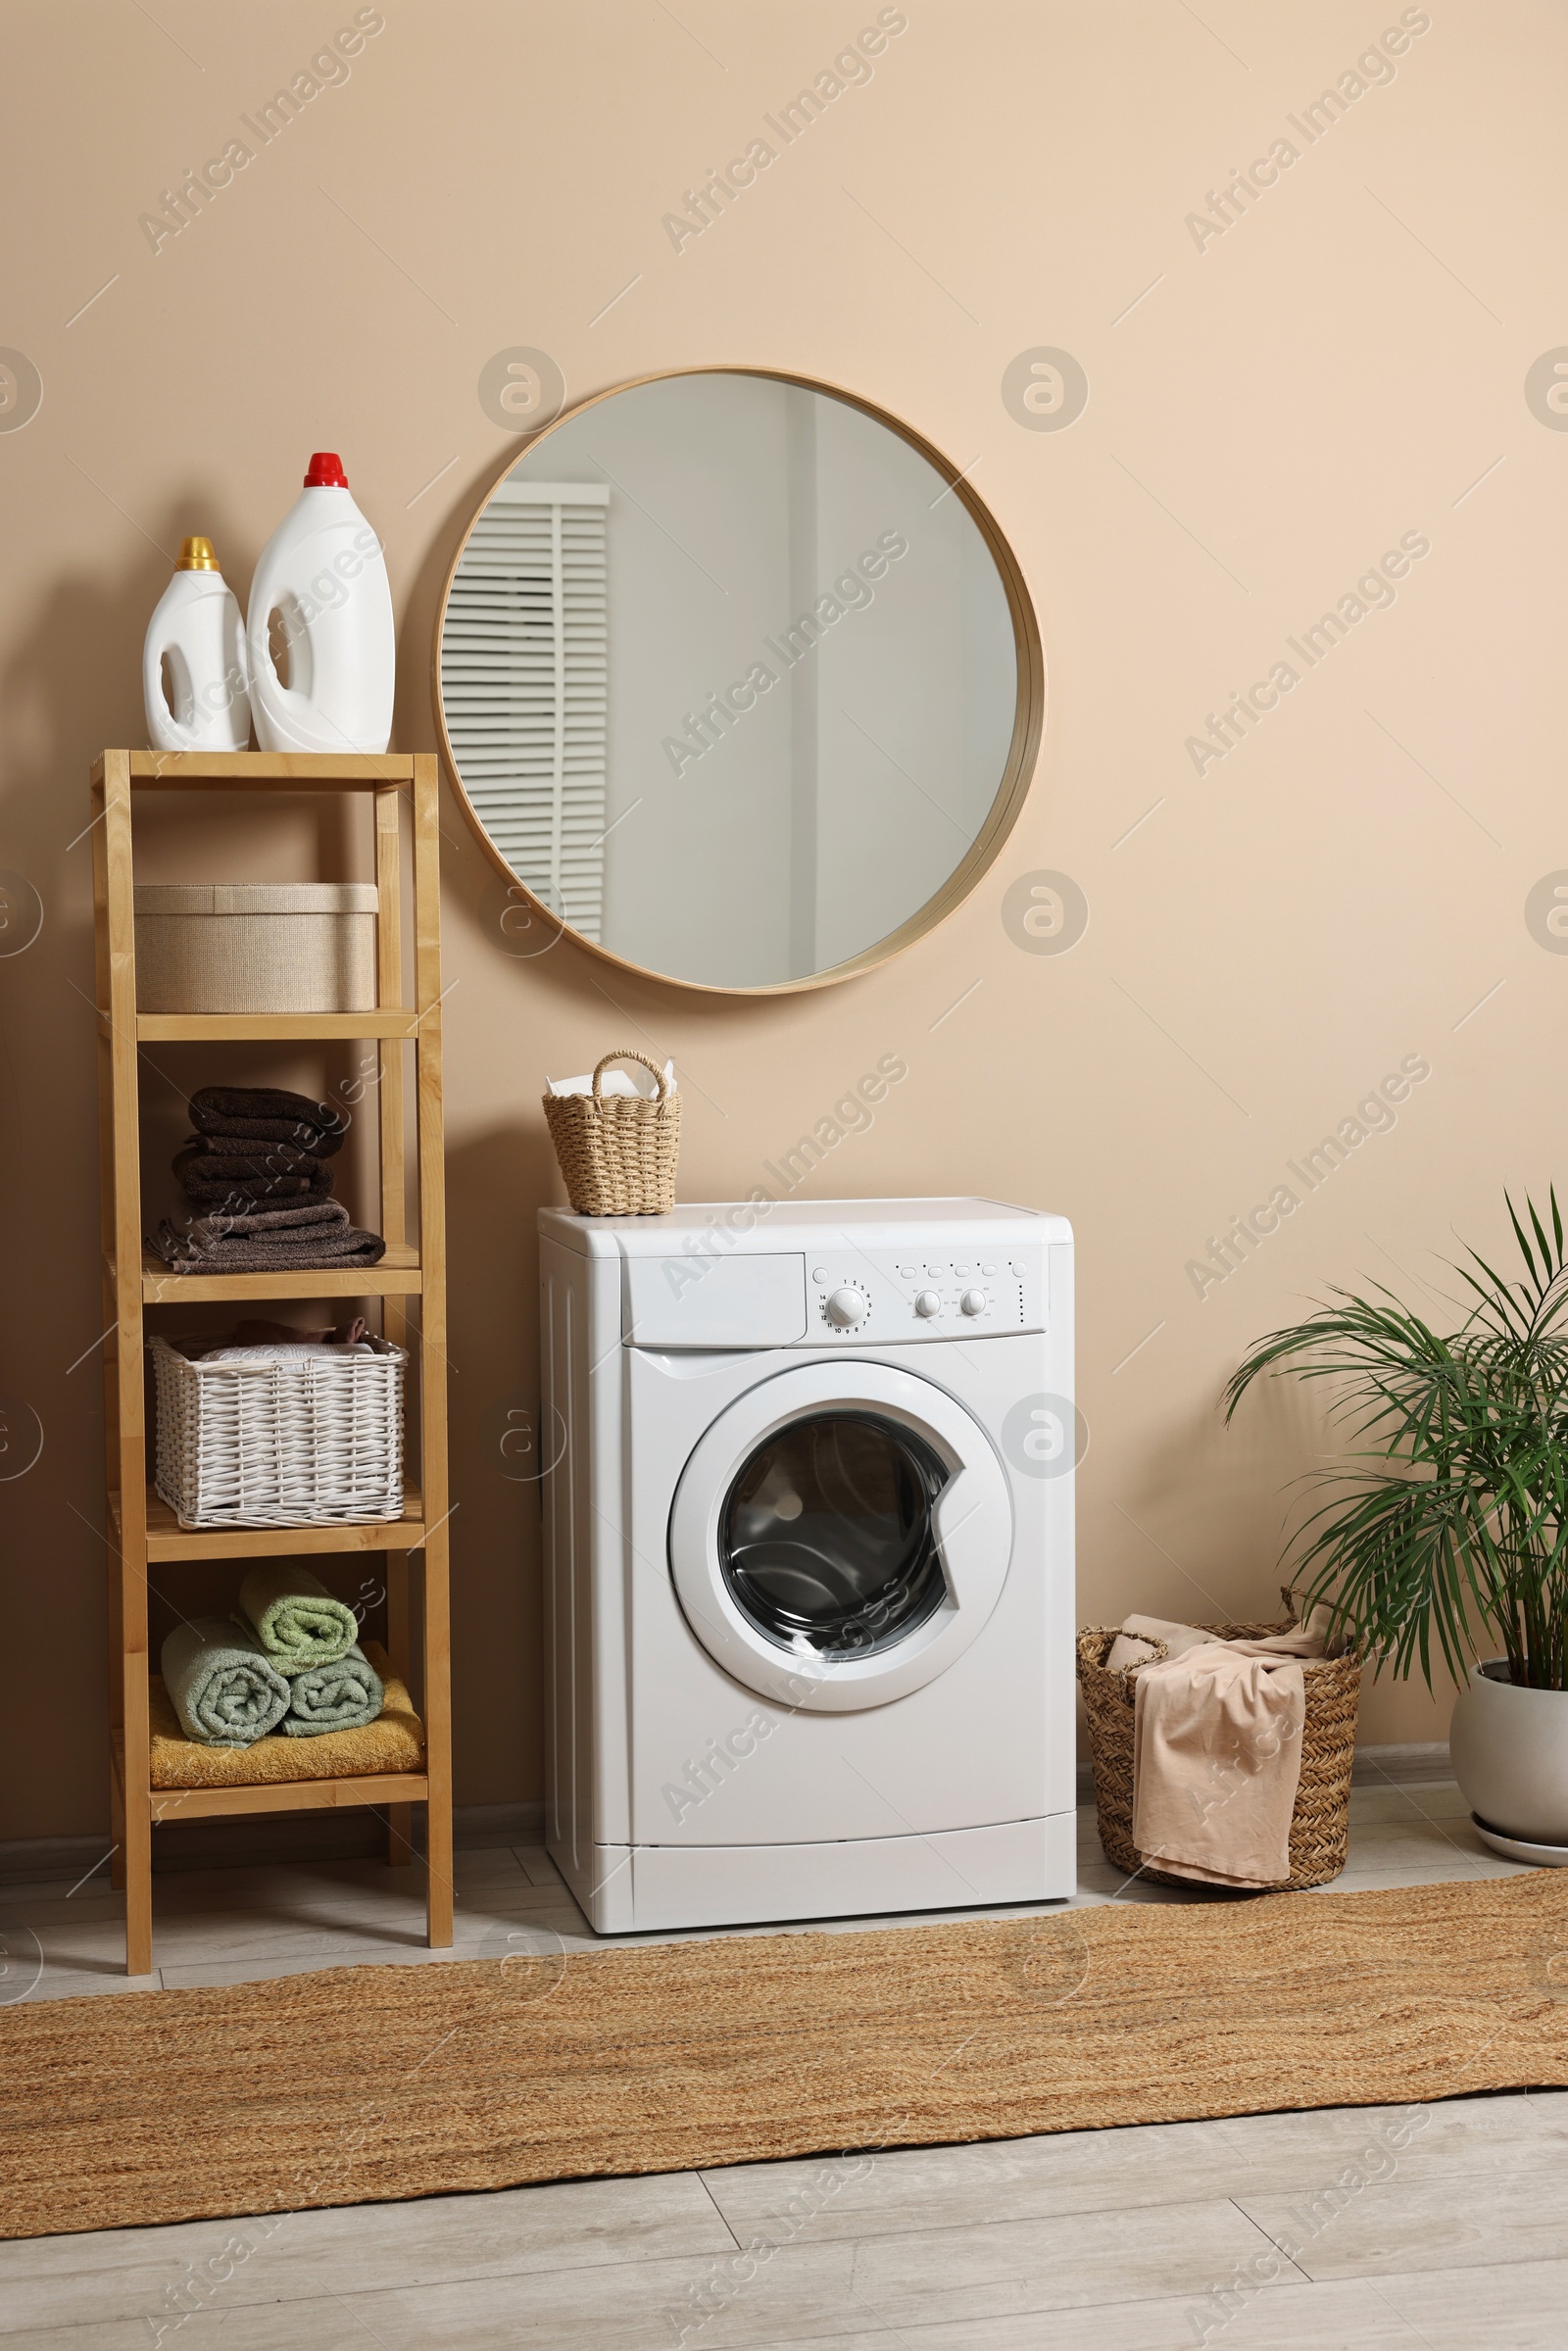
<svg viewBox="0 0 1568 2351"><path fill-rule="evenodd" d="M369 792L376 811L376 1011L139 1013L132 809L139 792ZM113 1881L125 1886L125 1965L153 1968L153 1827L165 1817L374 1806L388 1860L411 1860L411 1808L425 1806L428 1928L451 1944L451 1660L447 1587L447 1248L442 1183L440 835L433 755L275 757L270 752L106 750L92 771L99 1002L99 1159L103 1215L103 1401L108 1446L108 1622L113 1726ZM411 802L414 969L404 1002L402 802ZM376 1041L381 1265L301 1274L174 1274L143 1251L139 1049L146 1041ZM418 1230L407 1232L407 1070L414 1058ZM418 1455L404 1514L383 1526L183 1531L146 1472L146 1310L233 1300L378 1298L386 1338L418 1378ZM409 1328L409 1300L418 1326ZM155 1789L148 1756L148 1568L188 1559L376 1552L386 1563L388 1650L409 1676L411 1587L423 1603L425 1770L261 1787ZM411 1563L421 1563L414 1578Z"/></svg>

